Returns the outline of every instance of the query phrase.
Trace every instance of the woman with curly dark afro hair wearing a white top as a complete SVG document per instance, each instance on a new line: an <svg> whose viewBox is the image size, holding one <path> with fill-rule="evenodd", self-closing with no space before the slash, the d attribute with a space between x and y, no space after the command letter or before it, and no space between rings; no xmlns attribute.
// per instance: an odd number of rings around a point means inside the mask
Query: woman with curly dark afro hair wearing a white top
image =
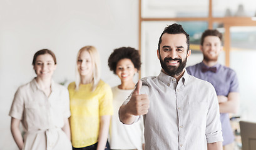
<svg viewBox="0 0 256 150"><path fill-rule="evenodd" d="M133 76L140 70L140 54L132 47L120 47L111 53L108 66L121 80L119 86L112 88L114 112L110 125L110 148L144 149L143 119L127 126L118 118L118 109L135 87Z"/></svg>

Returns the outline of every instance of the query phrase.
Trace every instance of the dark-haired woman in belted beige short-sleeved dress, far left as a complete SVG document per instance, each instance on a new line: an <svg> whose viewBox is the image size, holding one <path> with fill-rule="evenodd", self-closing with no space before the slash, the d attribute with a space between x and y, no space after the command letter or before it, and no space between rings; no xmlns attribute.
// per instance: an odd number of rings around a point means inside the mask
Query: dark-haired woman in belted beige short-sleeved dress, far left
<svg viewBox="0 0 256 150"><path fill-rule="evenodd" d="M11 133L19 149L72 149L68 90L52 80L56 65L52 51L36 52L33 59L36 78L20 86L14 96L9 116ZM25 129L24 138L20 123Z"/></svg>

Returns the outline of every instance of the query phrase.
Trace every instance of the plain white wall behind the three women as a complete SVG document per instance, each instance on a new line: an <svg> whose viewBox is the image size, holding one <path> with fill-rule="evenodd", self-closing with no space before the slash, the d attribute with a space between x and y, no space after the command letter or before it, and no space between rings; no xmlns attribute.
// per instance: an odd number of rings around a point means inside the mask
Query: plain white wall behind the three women
<svg viewBox="0 0 256 150"><path fill-rule="evenodd" d="M108 56L121 46L138 49L138 1L0 1L0 149L18 149L8 113L18 86L35 76L33 54L43 48L54 51L54 80L68 84L74 80L76 53L86 45L100 51L103 81L119 84Z"/></svg>

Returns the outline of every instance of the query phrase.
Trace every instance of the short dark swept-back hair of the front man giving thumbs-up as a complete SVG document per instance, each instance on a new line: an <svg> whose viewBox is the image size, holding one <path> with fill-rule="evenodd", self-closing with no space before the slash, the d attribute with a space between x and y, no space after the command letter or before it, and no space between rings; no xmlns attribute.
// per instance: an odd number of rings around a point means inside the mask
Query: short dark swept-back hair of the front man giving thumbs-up
<svg viewBox="0 0 256 150"><path fill-rule="evenodd" d="M187 37L187 45L188 45L187 51L190 49L189 35L183 29L182 25L174 23L172 25L169 25L169 26L165 27L165 30L161 33L161 36L160 36L159 42L158 42L158 51L160 50L161 37L165 33L168 33L168 34L185 34L185 36Z"/></svg>

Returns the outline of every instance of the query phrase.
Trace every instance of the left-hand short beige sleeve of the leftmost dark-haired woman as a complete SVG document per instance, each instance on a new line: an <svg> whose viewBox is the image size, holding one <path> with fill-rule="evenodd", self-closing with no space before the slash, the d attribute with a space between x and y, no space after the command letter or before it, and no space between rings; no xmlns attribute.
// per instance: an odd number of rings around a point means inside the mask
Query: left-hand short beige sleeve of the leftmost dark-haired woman
<svg viewBox="0 0 256 150"><path fill-rule="evenodd" d="M24 92L19 88L14 94L13 104L9 111L9 116L21 120L23 118L24 111Z"/></svg>

